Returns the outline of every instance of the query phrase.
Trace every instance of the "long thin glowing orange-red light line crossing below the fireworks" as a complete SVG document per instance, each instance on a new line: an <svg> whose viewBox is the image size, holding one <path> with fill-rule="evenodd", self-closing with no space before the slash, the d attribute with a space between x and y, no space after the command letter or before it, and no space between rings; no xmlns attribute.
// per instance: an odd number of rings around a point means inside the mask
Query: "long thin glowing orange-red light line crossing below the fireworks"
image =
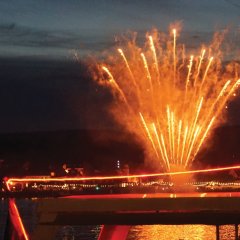
<svg viewBox="0 0 240 240"><path fill-rule="evenodd" d="M200 170L190 170L190 171L179 171L179 172L161 172L161 173L148 173L148 174L135 174L135 175L123 175L123 176L96 176L96 177L44 177L44 178L9 178L6 180L6 185L8 189L11 189L11 185L16 183L29 183L29 182L72 182L72 181L91 181L91 180L114 180L114 179L133 179L133 178L146 178L146 177L162 177L162 176L174 176L182 174L194 174L194 173L212 173L227 171L233 169L240 169L240 165L219 167L219 168L209 168Z"/></svg>

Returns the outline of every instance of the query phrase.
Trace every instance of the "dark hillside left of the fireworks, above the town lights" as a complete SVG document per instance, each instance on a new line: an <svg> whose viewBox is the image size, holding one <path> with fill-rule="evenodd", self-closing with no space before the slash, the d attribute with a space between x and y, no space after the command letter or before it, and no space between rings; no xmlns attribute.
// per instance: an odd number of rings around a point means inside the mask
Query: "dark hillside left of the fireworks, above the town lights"
<svg viewBox="0 0 240 240"><path fill-rule="evenodd" d="M64 163L111 173L117 160L135 169L143 150L130 134L109 130L66 130L0 135L2 175L41 175L58 171Z"/></svg>

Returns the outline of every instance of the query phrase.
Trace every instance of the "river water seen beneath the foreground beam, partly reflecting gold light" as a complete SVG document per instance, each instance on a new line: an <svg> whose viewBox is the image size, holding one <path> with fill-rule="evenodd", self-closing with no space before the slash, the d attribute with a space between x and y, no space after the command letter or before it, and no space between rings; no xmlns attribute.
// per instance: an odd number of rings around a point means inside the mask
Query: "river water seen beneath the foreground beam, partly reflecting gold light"
<svg viewBox="0 0 240 240"><path fill-rule="evenodd" d="M36 211L34 201L17 200L20 214L28 232L34 230ZM0 240L4 240L7 201L0 201ZM97 240L101 226L63 226L54 240ZM215 226L207 225L137 225L131 227L127 240L215 240ZM234 226L220 227L221 240L235 240Z"/></svg>

